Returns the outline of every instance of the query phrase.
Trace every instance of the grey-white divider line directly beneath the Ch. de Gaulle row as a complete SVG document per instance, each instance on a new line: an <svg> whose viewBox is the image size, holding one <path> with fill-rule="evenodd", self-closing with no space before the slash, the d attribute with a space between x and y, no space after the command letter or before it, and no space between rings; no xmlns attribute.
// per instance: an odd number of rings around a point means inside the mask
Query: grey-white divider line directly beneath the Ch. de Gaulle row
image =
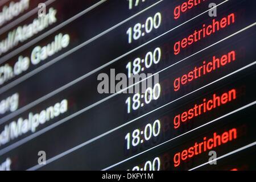
<svg viewBox="0 0 256 182"><path fill-rule="evenodd" d="M163 0L162 0L162 1L163 1ZM62 55L56 57L55 59L53 59L53 60L51 60L51 61L48 61L48 63L43 64L42 66L40 66L40 67L34 69L33 71L27 73L26 75L24 75L24 76L22 76L22 77L20 77L20 78L18 78L18 79L16 79L16 80L10 82L9 84L3 86L2 88L0 88L0 94L3 93L3 92L6 92L6 91L9 90L10 88L13 88L14 86L16 86L16 85L18 85L18 84L20 84L20 82L23 82L23 81L27 80L28 78L30 78L30 77L36 75L37 73L42 72L44 69L48 68L49 66L51 66L51 65L53 65L53 64L55 64L55 63L57 63L57 62L60 61L61 59L63 59L63 58L65 58L65 57L71 55L72 53L78 51L80 48L86 46L87 44L92 43L94 40L100 38L101 36L107 34L107 33L110 32L110 31L114 30L114 29L117 28L118 26L121 26L123 23L125 23L125 22L127 22L127 21L133 19L135 16L138 16L139 14L143 13L144 11L150 9L151 7L157 5L158 3L162 2L162 1L156 2L154 5L151 5L151 6L147 7L146 9L140 11L139 13L137 13L137 14L135 14L135 15L133 15L133 16L130 16L130 18L127 18L126 20L123 20L122 22L120 22L120 23L116 24L115 26L109 28L108 30L102 32L101 34L98 34L97 36L94 36L93 38L91 38L91 39L85 41L84 43L80 44L79 46L70 49L69 51L63 53ZM104 68L104 67L102 67L102 68ZM100 69L102 69L102 68L100 67ZM92 75L94 72L96 72L96 71L98 71L98 70L99 70L99 68L98 68L98 69L95 69L94 71L91 71L91 72L87 73L87 74L86 74L86 77L88 77L89 75ZM82 77L84 77L84 76L82 76ZM81 77L80 77L80 78L81 78ZM78 79L79 79L79 78L78 78Z"/></svg>

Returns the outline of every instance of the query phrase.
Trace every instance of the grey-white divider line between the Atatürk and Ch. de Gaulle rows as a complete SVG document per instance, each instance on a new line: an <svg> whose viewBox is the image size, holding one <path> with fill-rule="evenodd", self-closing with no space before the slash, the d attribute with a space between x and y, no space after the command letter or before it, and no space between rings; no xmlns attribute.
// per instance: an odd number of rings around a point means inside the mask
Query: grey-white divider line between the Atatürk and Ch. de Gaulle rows
<svg viewBox="0 0 256 182"><path fill-rule="evenodd" d="M102 3L104 3L107 0L101 0L100 2L97 2L96 4L94 4L93 6L88 7L87 9L85 9L84 11L80 12L79 14L73 16L72 18L69 18L68 20L65 20L65 22L60 23L59 25L57 25L56 27L52 28L51 30L45 32L44 34L36 37L35 39L31 40L30 42L24 44L23 46L20 46L18 48L16 48L14 51L8 53L7 55L3 56L0 58L0 64L4 63L6 60L9 60L11 57L14 57L15 55L18 55L18 53L24 51L25 49L27 49L28 47L32 46L33 44L39 42L40 40L46 38L48 35L52 34L53 32L59 30L60 28L66 26L68 23L72 22L73 20L79 18L80 16L88 13L90 10L96 8L97 6L100 6Z"/></svg>

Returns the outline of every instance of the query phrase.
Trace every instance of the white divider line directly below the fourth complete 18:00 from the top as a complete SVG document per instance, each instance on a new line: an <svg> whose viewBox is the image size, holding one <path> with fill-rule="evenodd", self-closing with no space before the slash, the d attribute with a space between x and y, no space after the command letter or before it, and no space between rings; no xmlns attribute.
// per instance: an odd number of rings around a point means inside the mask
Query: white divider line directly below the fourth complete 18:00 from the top
<svg viewBox="0 0 256 182"><path fill-rule="evenodd" d="M192 129L192 130L190 130L190 131L187 131L187 132L184 133L184 134L181 134L181 135L179 135L179 136L177 136L177 137L175 137L175 138L172 138L172 139L170 139L170 140L167 140L166 142L163 142L163 143L161 143L161 144L159 144L159 145L157 145L157 146L155 146L155 147L152 147L152 148L150 148L150 149L148 149L148 150L146 150L146 151L143 151L143 152L141 152L141 153L139 153L139 154L137 154L137 155L131 156L131 157L128 158L128 159L122 160L122 161L119 162L119 163L113 164L112 166L109 166L109 167L107 167L107 168L105 168L105 169L102 169L102 171L106 171L106 170L108 170L108 169L110 169L110 168L113 168L113 167L115 167L115 166L118 166L119 164L125 163L125 162L127 162L128 160L131 160L131 159L133 159L133 158L135 158L135 157L137 157L137 156L139 156L139 155L142 155L142 154L144 154L144 153L146 153L146 152L148 152L148 151L153 150L154 148L160 147L160 146L162 146L163 144L166 144L166 143L168 143L168 142L171 142L172 140L175 140L175 139L180 138L180 137L182 137L182 136L184 136L184 135L187 135L187 134L191 133L192 131L198 130L198 129L200 129L201 127L207 126L207 125L209 125L209 124L211 124L211 123L214 123L214 122L216 122L216 121L218 121L218 120L220 120L220 119L222 119L222 118L228 117L229 115L232 115L232 114L234 114L234 113L237 113L238 111L241 111L241 110L243 110L243 109L246 109L247 107L253 106L253 105L255 105L255 104L256 104L256 101L251 102L251 103L248 104L248 105L245 105L245 106L243 106L243 107L240 107L239 109L236 109L236 110L234 110L234 111L232 111L232 112L230 112L230 113L228 113L228 114L222 115L221 117L216 118L216 119L214 119L214 120L212 120L212 121L210 121L210 122L208 122L208 123L205 123L204 125L201 125L201 126L199 126L199 127L196 127L195 129ZM47 164L48 164L48 161L47 161ZM39 167L39 166L37 166L37 167ZM41 167L42 167L42 166L41 166ZM40 168L40 167L39 167L39 168Z"/></svg>

